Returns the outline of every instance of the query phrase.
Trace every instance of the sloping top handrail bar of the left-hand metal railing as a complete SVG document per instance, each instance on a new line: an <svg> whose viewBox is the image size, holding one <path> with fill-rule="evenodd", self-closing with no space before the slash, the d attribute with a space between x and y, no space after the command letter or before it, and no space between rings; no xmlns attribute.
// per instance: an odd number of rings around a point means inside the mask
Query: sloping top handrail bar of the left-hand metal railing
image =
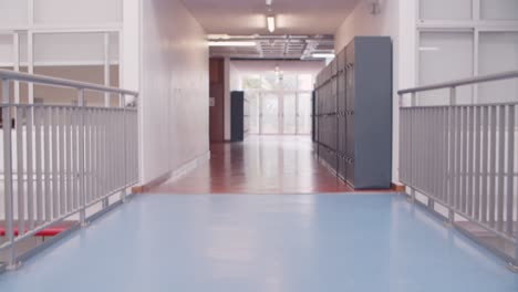
<svg viewBox="0 0 518 292"><path fill-rule="evenodd" d="M38 74L21 73L21 72L10 71L10 70L0 70L0 79L1 80L15 80L15 81L38 83L38 84L44 84L44 85L53 85L53 86L60 86L60 87L70 87L70 88L77 88L77 90L126 94L126 95L133 95L135 97L138 96L138 93L134 91L103 86L103 85L81 82L81 81L49 77L49 76L38 75Z"/></svg>

